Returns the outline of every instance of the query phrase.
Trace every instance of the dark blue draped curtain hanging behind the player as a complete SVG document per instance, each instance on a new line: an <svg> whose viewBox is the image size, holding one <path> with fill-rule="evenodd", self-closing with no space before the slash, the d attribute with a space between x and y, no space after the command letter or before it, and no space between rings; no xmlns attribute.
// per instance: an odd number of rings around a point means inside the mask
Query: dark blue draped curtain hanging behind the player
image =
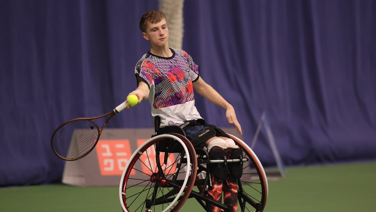
<svg viewBox="0 0 376 212"><path fill-rule="evenodd" d="M111 111L149 49L141 1L0 1L0 186L61 180L59 124ZM376 159L376 2L186 0L183 48L235 107L250 144L266 111L286 165ZM196 95L212 124L223 109ZM152 128L144 102L110 128ZM273 166L261 136L254 151Z"/></svg>

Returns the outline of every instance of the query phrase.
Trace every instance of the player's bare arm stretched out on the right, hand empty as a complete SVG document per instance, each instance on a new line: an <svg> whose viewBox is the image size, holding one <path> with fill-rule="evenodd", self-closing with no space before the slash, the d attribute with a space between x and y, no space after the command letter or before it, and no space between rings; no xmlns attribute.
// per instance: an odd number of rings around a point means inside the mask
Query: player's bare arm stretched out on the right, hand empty
<svg viewBox="0 0 376 212"><path fill-rule="evenodd" d="M198 80L193 82L193 88L196 90L197 93L202 95L207 100L225 109L226 118L229 121L229 123L235 125L240 134L242 134L241 126L236 118L233 106L230 103L228 103L217 91L215 91L214 88L212 88L212 86L205 83L205 81L200 77Z"/></svg>

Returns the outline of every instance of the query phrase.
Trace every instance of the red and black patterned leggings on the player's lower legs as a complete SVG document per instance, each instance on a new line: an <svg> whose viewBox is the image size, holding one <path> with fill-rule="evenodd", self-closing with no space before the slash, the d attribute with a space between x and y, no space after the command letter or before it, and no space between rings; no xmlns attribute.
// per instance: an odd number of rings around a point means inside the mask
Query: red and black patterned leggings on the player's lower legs
<svg viewBox="0 0 376 212"><path fill-rule="evenodd" d="M238 210L238 185L237 179L232 177L230 173L226 180L220 180L214 175L211 175L212 181L212 190L208 190L209 198L217 201L218 203L222 202L222 192L224 192L224 204L233 205L233 212ZM215 207L210 205L211 212L220 212L221 209L219 207Z"/></svg>

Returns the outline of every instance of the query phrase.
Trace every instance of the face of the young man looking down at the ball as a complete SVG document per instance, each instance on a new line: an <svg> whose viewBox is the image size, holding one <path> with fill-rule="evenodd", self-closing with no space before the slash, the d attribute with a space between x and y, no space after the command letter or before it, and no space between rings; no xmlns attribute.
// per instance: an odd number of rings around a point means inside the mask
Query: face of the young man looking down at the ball
<svg viewBox="0 0 376 212"><path fill-rule="evenodd" d="M146 33L143 32L143 36L146 40L150 41L153 46L165 46L168 41L168 28L165 19L160 22L152 24L149 23L146 29Z"/></svg>

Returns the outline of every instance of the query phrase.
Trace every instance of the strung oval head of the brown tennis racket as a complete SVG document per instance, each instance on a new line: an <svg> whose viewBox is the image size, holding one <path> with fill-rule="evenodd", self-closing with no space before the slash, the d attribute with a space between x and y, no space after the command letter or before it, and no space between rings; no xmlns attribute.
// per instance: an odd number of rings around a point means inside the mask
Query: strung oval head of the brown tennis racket
<svg viewBox="0 0 376 212"><path fill-rule="evenodd" d="M96 144L98 136L99 129L92 121L70 121L56 131L53 148L63 158L80 158Z"/></svg>

